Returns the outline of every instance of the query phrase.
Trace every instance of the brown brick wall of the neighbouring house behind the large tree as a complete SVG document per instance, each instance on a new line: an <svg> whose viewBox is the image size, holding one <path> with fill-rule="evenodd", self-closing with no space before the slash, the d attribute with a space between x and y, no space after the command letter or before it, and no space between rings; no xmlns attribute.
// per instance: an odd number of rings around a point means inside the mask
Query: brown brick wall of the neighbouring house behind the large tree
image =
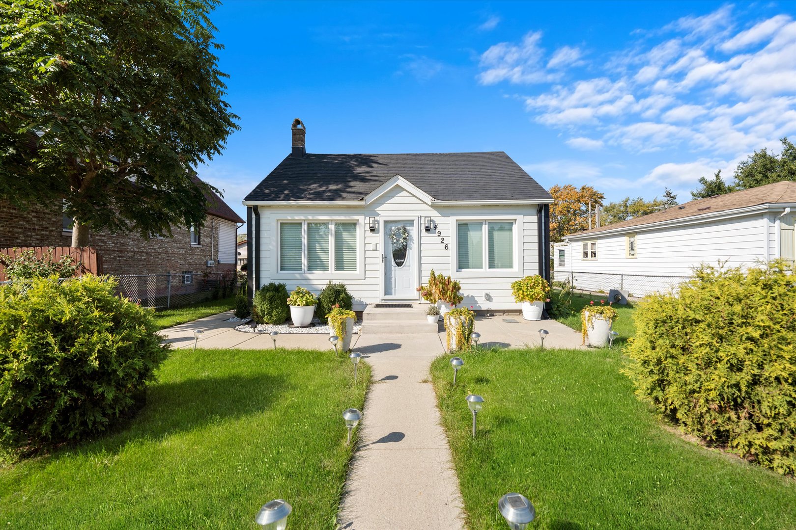
<svg viewBox="0 0 796 530"><path fill-rule="evenodd" d="M234 263L218 263L218 222L208 215L201 229L201 246L190 243L189 230L173 228L172 238L142 239L138 234L91 234L88 246L96 248L105 274L161 274L193 271L227 273ZM70 246L72 232L62 230L60 204L53 208L19 211L0 201L0 248L9 246ZM208 260L216 266L208 267Z"/></svg>

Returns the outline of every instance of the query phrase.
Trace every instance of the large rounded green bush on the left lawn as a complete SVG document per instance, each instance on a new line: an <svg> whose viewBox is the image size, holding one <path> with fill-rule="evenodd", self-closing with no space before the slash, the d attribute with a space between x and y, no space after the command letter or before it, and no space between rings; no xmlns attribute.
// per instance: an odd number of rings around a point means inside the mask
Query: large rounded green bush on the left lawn
<svg viewBox="0 0 796 530"><path fill-rule="evenodd" d="M0 447L6 455L104 431L166 359L152 311L116 281L36 278L0 288Z"/></svg>

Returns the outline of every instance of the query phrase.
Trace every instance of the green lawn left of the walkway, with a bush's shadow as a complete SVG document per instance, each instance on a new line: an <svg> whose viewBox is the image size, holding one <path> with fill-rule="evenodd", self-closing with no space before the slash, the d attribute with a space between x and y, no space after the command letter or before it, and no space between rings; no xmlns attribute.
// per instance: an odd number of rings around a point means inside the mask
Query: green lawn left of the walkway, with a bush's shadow
<svg viewBox="0 0 796 530"><path fill-rule="evenodd" d="M341 414L370 379L304 350L174 350L139 415L111 434L0 469L3 528L334 528L351 448ZM356 432L356 431L355 431Z"/></svg>

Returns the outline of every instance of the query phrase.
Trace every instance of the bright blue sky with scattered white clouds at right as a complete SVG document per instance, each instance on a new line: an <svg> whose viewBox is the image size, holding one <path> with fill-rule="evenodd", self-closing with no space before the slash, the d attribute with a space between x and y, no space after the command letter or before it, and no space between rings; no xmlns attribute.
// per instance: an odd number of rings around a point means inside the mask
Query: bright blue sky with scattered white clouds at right
<svg viewBox="0 0 796 530"><path fill-rule="evenodd" d="M545 188L689 199L796 136L796 2L224 2L241 130L199 168L244 195L310 153L505 151Z"/></svg>

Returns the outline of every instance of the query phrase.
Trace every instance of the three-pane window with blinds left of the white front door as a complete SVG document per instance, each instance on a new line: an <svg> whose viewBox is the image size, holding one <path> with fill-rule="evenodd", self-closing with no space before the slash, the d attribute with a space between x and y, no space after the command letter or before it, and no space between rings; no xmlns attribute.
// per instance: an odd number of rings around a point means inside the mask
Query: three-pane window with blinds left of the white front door
<svg viewBox="0 0 796 530"><path fill-rule="evenodd" d="M356 221L279 222L279 272L356 271Z"/></svg>

